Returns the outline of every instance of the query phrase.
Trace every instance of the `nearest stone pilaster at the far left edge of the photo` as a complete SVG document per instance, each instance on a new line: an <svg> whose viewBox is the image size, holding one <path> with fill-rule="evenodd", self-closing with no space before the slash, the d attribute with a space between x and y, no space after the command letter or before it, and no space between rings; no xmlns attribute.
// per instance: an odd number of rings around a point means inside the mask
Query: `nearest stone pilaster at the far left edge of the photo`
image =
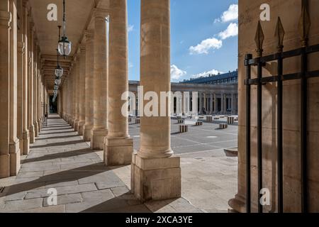
<svg viewBox="0 0 319 227"><path fill-rule="evenodd" d="M10 23L11 13L0 4L0 178L10 177L9 122L10 122Z"/></svg>

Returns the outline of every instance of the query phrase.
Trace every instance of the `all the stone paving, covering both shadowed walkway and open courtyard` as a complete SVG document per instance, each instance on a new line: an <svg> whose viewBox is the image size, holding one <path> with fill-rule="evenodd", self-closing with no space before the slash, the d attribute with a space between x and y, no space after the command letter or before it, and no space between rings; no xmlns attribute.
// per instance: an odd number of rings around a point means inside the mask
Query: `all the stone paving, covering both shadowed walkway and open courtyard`
<svg viewBox="0 0 319 227"><path fill-rule="evenodd" d="M172 150L181 157L181 198L141 203L130 193L130 165L106 167L103 150L89 143L60 116L50 115L30 153L22 156L16 177L0 179L1 212L228 212L237 191L237 126L218 129L203 122L179 133L172 118ZM134 148L139 148L140 125L129 125ZM48 189L56 189L50 206Z"/></svg>

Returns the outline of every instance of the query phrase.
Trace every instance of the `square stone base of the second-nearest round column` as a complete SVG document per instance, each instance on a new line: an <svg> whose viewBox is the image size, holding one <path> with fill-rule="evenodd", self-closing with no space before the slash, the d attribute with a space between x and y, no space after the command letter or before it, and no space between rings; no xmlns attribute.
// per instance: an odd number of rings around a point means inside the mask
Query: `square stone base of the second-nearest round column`
<svg viewBox="0 0 319 227"><path fill-rule="evenodd" d="M132 154L132 138L104 138L104 163L107 166L130 165Z"/></svg>

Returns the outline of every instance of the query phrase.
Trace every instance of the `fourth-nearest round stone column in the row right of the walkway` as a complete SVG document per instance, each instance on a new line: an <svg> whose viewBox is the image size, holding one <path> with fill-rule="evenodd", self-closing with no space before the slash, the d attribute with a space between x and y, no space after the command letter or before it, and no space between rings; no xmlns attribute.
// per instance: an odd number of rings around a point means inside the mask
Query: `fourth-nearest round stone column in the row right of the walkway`
<svg viewBox="0 0 319 227"><path fill-rule="evenodd" d="M93 80L94 80L94 31L85 32L86 57L85 57L85 125L84 141L91 141L93 128Z"/></svg>

